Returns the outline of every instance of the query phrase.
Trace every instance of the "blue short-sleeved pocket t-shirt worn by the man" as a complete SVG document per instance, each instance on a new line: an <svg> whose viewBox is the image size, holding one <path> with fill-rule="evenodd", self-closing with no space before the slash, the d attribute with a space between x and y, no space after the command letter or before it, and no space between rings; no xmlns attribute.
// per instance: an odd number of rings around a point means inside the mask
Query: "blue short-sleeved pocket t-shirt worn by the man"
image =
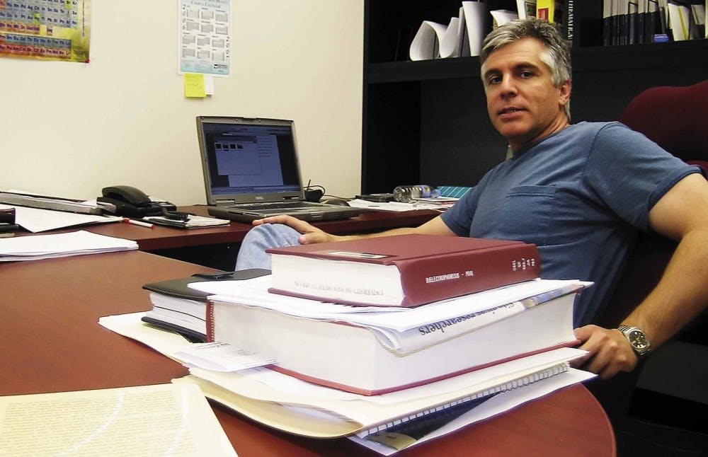
<svg viewBox="0 0 708 457"><path fill-rule="evenodd" d="M595 284L573 323L600 316L637 230L675 183L700 173L619 122L581 122L525 146L442 214L458 236L535 243L542 277Z"/></svg>

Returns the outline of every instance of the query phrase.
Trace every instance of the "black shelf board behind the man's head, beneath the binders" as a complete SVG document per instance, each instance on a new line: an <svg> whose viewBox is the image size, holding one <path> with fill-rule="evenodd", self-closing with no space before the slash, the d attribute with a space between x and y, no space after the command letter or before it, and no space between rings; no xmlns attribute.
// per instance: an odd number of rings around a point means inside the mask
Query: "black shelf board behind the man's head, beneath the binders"
<svg viewBox="0 0 708 457"><path fill-rule="evenodd" d="M706 66L708 40L573 48L573 72ZM367 83L479 78L479 57L367 65Z"/></svg>

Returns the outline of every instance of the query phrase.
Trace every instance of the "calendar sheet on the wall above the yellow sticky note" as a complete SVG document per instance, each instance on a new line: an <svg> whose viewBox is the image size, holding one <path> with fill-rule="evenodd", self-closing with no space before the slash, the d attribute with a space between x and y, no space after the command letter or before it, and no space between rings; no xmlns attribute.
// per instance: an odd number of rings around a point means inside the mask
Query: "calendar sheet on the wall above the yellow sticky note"
<svg viewBox="0 0 708 457"><path fill-rule="evenodd" d="M1 0L0 0L1 1ZM179 74L229 76L230 0L179 0Z"/></svg>

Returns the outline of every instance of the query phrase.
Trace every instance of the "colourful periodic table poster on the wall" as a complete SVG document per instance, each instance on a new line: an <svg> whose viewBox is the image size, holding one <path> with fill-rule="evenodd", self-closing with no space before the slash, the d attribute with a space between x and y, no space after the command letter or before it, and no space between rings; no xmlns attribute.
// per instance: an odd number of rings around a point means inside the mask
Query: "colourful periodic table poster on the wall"
<svg viewBox="0 0 708 457"><path fill-rule="evenodd" d="M89 63L91 0L0 0L0 57Z"/></svg>

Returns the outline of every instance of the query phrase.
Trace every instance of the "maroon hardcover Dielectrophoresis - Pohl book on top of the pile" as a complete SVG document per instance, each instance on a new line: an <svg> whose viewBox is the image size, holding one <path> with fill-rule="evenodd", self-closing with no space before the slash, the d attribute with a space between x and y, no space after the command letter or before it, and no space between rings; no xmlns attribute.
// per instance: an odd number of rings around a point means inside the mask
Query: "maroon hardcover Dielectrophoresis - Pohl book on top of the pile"
<svg viewBox="0 0 708 457"><path fill-rule="evenodd" d="M362 306L418 306L539 277L535 245L395 235L273 248L270 291Z"/></svg>

